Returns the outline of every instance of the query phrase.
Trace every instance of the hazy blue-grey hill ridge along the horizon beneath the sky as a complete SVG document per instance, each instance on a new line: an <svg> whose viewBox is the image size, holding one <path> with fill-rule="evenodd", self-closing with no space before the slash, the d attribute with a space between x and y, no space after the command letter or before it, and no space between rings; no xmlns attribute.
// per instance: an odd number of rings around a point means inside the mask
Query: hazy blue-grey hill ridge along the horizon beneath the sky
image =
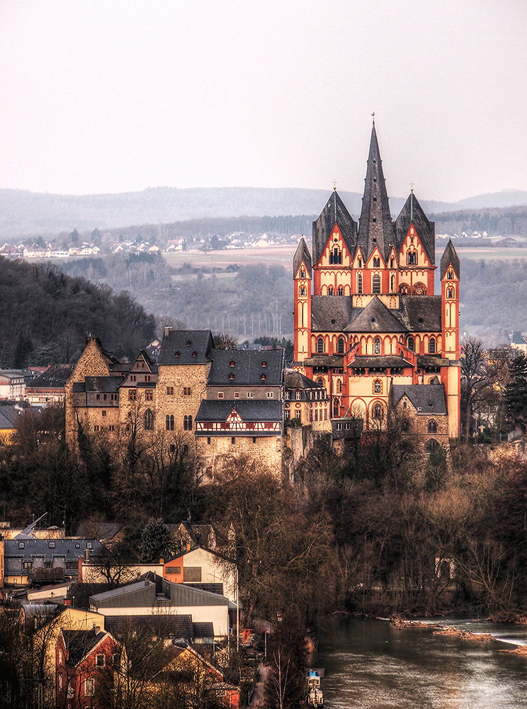
<svg viewBox="0 0 527 709"><path fill-rule="evenodd" d="M329 194L330 190L324 189L153 187L141 192L72 196L0 189L0 240L57 235L75 228L108 229L196 218L318 214ZM357 216L362 195L340 194L348 210ZM392 213L399 212L405 199L390 199ZM422 202L427 213L436 214L516 205L527 205L527 192L503 191L455 203Z"/></svg>

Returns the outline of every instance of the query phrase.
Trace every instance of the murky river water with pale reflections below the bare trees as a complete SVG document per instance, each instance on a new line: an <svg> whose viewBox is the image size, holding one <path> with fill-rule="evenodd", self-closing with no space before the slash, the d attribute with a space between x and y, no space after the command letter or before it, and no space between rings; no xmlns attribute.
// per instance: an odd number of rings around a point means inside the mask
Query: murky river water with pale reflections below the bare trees
<svg viewBox="0 0 527 709"><path fill-rule="evenodd" d="M314 661L326 669L324 708L527 709L527 655L497 652L526 644L526 626L436 620L460 630L490 632L499 642L333 616L319 632Z"/></svg>

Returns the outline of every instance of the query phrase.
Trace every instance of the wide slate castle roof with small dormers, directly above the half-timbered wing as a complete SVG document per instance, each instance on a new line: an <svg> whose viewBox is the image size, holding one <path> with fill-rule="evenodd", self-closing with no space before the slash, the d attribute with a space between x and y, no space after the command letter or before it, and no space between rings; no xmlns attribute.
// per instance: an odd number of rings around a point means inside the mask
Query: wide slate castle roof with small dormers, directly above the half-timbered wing
<svg viewBox="0 0 527 709"><path fill-rule="evenodd" d="M284 350L210 350L209 385L279 386L282 383ZM230 366L234 362L234 367ZM262 366L262 362L266 366ZM234 374L234 379L229 376ZM266 378L262 379L261 375Z"/></svg>

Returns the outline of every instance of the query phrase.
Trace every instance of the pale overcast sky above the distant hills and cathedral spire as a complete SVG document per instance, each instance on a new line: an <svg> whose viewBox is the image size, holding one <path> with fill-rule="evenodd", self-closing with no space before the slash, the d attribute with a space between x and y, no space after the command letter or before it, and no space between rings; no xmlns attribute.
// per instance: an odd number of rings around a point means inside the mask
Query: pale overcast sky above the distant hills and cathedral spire
<svg viewBox="0 0 527 709"><path fill-rule="evenodd" d="M525 0L0 0L0 187L527 189Z"/></svg>

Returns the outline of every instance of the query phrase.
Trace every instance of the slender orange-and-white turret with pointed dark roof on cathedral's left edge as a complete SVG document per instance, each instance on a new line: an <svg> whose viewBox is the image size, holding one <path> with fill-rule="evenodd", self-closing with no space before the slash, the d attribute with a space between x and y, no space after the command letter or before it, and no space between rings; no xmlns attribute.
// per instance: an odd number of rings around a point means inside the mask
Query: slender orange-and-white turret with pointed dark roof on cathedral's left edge
<svg viewBox="0 0 527 709"><path fill-rule="evenodd" d="M295 362L311 356L311 255L302 237L293 257Z"/></svg>

